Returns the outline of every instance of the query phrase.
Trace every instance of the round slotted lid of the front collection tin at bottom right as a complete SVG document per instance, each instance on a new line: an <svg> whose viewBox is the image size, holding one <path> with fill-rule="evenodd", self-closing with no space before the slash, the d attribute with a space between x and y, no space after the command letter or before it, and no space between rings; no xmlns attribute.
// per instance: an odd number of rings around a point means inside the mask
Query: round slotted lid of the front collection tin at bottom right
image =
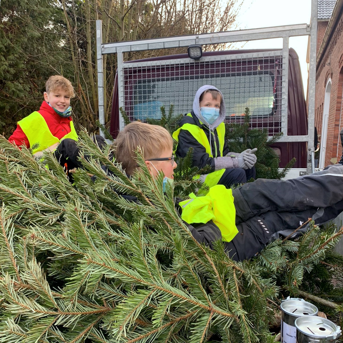
<svg viewBox="0 0 343 343"><path fill-rule="evenodd" d="M342 333L341 328L331 320L317 316L303 316L295 320L298 331L316 338L336 339Z"/></svg>

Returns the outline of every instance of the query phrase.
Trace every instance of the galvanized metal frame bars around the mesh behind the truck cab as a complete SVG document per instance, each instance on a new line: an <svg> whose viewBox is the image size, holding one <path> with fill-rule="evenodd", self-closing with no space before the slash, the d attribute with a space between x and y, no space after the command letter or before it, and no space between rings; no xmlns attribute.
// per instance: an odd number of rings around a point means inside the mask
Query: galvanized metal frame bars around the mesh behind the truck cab
<svg viewBox="0 0 343 343"><path fill-rule="evenodd" d="M118 61L118 90L119 107L124 105L123 89L123 52L141 51L152 49L166 49L176 47L186 47L192 44L218 44L242 42L246 40L259 40L270 38L283 38L283 68L284 78L282 84L283 107L282 107L282 127L284 133L280 142L308 142L307 174L314 172L314 115L315 115L315 89L316 89L316 45L317 45L317 12L318 0L311 2L311 24L284 25L275 27L263 27L257 29L247 29L229 32L206 33L200 35L187 35L177 37L165 37L155 39L143 39L130 42L102 43L102 22L96 21L96 48L97 48L97 69L98 69L98 103L99 121L104 122L104 77L103 77L103 55L117 54ZM289 37L309 35L310 39L310 67L308 86L308 134L301 136L288 136L288 50ZM161 41L162 40L162 41ZM232 56L232 55L231 55ZM155 61L157 62L157 61ZM164 63L166 61L163 61ZM138 62L139 63L139 62ZM137 65L138 65L137 63ZM123 127L123 120L120 118L120 127ZM103 134L100 131L100 134Z"/></svg>

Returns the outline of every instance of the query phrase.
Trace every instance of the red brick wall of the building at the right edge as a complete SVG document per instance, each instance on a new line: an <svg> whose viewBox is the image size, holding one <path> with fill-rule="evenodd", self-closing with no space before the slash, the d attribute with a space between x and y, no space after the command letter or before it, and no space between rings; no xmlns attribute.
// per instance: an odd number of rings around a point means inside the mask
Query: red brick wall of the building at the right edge
<svg viewBox="0 0 343 343"><path fill-rule="evenodd" d="M318 23L318 41L320 31L323 30L323 23ZM329 107L329 121L325 154L325 165L331 164L331 159L340 159L342 147L340 144L339 132L343 126L342 118L342 88L343 88L343 13L331 35L330 42L322 57L322 61L316 74L316 105L315 125L318 130L319 141L323 120L324 97L327 81L331 78L331 94ZM317 51L319 47L317 45Z"/></svg>

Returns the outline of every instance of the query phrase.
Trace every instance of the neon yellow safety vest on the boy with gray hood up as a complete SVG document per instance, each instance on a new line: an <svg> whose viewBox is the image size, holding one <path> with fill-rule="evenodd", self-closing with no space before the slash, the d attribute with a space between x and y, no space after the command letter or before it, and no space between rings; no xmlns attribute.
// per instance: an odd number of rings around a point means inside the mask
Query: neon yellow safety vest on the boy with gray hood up
<svg viewBox="0 0 343 343"><path fill-rule="evenodd" d="M192 117L190 113L188 113L187 116ZM179 129L173 132L173 138L177 142L179 141L180 130L187 130L198 141L199 144L205 147L206 153L208 153L210 157L213 157L210 142L206 136L205 131L202 128L200 128L198 125L195 125L195 124L185 123ZM220 125L218 125L216 130L217 130L218 141L219 141L219 154L217 156L221 157L223 156L223 148L224 148L224 140L225 140L224 122L220 123ZM214 139L214 142L215 142L215 139ZM215 146L215 149L217 150L217 146ZM225 172L225 169L220 169L220 170L213 171L212 173L206 174L206 177L203 181L207 186L213 187L218 184L224 172ZM195 178L200 179L201 177L200 175L197 175Z"/></svg>

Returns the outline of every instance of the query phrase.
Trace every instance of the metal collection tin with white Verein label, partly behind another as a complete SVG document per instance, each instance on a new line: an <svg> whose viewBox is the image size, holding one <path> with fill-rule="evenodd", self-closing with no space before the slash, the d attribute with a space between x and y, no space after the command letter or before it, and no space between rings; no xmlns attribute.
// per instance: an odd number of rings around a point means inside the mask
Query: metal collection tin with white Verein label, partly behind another
<svg viewBox="0 0 343 343"><path fill-rule="evenodd" d="M302 316L316 316L318 308L300 298L287 298L281 303L281 342L296 343L295 320Z"/></svg>

